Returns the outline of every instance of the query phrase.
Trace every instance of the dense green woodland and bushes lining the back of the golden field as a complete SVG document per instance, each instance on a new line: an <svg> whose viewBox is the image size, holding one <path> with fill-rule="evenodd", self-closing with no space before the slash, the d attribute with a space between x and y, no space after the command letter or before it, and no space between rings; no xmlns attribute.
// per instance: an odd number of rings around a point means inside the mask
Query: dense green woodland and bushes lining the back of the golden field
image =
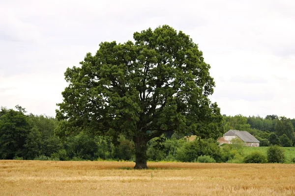
<svg viewBox="0 0 295 196"><path fill-rule="evenodd" d="M59 128L58 128L59 127ZM268 115L245 117L223 115L224 133L230 129L248 131L261 147L295 145L295 119ZM94 136L86 131L64 135L59 122L45 115L26 114L21 106L0 109L0 159L21 160L131 160L134 143L120 136ZM187 142L183 135L170 132L148 142L149 161L242 163L248 153L242 144L218 146L216 140L196 138ZM249 148L249 147L248 147ZM288 150L290 150L288 148ZM292 150L291 150L292 151ZM255 154L255 153L254 153ZM264 153L266 154L266 150ZM284 162L295 162L295 154ZM265 157L263 157L265 158ZM264 162L264 160L262 161Z"/></svg>

